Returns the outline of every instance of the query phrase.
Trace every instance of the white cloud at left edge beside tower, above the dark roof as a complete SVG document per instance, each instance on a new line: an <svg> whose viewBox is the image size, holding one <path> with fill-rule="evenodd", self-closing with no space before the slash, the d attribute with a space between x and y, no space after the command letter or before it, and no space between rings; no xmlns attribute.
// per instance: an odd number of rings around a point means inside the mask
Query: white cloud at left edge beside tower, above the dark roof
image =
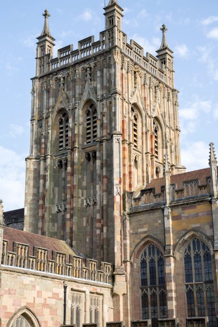
<svg viewBox="0 0 218 327"><path fill-rule="evenodd" d="M0 198L4 210L24 206L25 158L15 151L0 146Z"/></svg>

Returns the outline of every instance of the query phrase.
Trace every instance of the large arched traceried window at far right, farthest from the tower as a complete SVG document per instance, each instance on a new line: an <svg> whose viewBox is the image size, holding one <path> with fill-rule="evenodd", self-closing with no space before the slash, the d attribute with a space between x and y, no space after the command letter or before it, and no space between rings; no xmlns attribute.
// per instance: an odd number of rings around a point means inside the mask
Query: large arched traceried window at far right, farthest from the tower
<svg viewBox="0 0 218 327"><path fill-rule="evenodd" d="M208 316L209 327L217 326L210 250L198 238L189 241L185 253L187 316Z"/></svg>

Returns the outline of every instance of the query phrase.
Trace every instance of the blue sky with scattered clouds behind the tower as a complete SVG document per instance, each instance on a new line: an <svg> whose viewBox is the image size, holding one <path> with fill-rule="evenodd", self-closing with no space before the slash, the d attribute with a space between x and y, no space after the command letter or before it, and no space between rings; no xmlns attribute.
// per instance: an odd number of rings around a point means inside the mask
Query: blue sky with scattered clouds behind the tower
<svg viewBox="0 0 218 327"><path fill-rule="evenodd" d="M109 0L107 0L109 1ZM107 3L106 1L106 3ZM208 167L209 142L218 153L218 1L118 0L125 9L123 31L156 54L160 26L168 27L179 94L182 163L187 170ZM0 21L0 198L4 209L24 205L25 157L29 154L31 77L35 42L49 27L58 48L104 30L102 0L11 0L1 4ZM56 50L55 50L56 51ZM56 56L56 54L55 54Z"/></svg>

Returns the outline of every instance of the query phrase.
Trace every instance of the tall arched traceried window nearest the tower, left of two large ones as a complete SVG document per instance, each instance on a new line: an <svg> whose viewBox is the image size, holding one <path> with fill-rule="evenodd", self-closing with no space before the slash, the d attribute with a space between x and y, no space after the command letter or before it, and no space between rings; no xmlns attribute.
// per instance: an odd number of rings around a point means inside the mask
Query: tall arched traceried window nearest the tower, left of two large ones
<svg viewBox="0 0 218 327"><path fill-rule="evenodd" d="M165 268L163 254L148 244L140 257L142 319L151 319L158 327L158 318L167 318Z"/></svg>

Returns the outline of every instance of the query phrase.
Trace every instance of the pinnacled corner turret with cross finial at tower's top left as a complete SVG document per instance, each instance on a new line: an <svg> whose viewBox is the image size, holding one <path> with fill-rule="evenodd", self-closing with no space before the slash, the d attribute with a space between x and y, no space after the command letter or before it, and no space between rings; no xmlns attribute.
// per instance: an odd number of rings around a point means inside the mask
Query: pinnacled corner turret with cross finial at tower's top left
<svg viewBox="0 0 218 327"><path fill-rule="evenodd" d="M53 47L55 46L55 39L51 36L48 26L48 17L50 17L48 10L46 9L42 15L45 17L45 22L42 33L37 37L39 41L36 48L36 76L47 72L47 63L53 58Z"/></svg>

